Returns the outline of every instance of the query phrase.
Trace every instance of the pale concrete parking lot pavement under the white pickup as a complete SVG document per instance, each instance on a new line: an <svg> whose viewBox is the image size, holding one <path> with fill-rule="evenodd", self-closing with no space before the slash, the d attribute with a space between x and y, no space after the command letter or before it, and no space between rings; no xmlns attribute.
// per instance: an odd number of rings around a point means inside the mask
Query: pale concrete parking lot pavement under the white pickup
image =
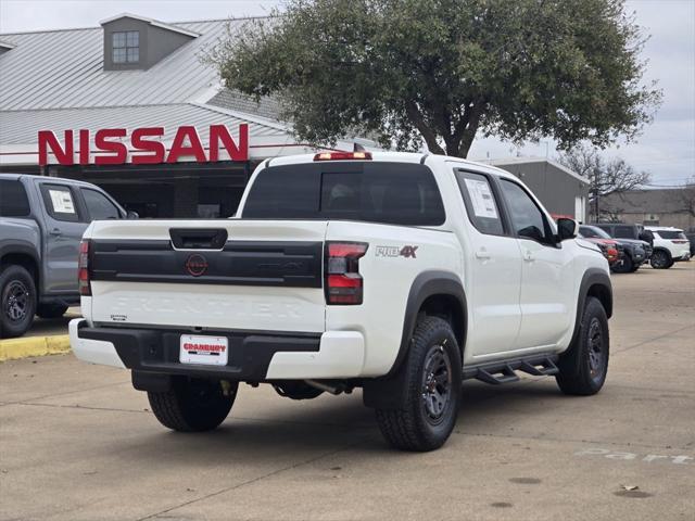
<svg viewBox="0 0 695 521"><path fill-rule="evenodd" d="M391 450L359 393L240 387L212 433L166 431L126 371L0 364L0 519L695 519L695 262L614 276L590 398L552 378L464 385L444 448Z"/></svg>

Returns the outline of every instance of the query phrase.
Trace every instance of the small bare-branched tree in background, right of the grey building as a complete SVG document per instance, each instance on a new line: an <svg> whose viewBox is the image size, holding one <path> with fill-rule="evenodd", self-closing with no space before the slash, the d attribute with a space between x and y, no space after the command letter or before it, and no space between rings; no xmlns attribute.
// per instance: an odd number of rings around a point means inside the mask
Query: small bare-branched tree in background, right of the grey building
<svg viewBox="0 0 695 521"><path fill-rule="evenodd" d="M635 170L620 157L607 161L601 156L598 149L585 144L580 144L561 154L559 162L589 179L589 200L594 220L598 220L604 213L610 214L611 208L601 206L604 198L634 190L647 185L650 180L648 173Z"/></svg>

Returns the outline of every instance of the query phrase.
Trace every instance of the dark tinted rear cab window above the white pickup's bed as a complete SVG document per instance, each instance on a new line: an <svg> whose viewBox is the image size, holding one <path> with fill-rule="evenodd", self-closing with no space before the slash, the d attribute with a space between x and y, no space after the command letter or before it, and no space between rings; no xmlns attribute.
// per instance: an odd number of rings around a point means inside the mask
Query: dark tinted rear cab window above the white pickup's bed
<svg viewBox="0 0 695 521"><path fill-rule="evenodd" d="M241 217L404 226L440 226L446 219L427 166L386 162L270 166L256 176Z"/></svg>

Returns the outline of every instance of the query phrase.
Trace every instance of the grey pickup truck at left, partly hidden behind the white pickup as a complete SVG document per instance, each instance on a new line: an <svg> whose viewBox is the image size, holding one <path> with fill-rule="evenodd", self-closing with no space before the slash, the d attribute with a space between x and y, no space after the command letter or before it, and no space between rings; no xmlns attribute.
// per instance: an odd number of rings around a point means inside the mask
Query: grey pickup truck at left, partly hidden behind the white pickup
<svg viewBox="0 0 695 521"><path fill-rule="evenodd" d="M127 216L93 185L0 174L0 338L21 336L34 316L79 303L79 241L96 219Z"/></svg>

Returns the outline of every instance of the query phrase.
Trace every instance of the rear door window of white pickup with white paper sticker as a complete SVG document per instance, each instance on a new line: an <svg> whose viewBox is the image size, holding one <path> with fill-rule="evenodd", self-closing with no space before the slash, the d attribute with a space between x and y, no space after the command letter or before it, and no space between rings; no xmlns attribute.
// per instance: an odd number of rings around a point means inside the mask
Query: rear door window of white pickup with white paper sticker
<svg viewBox="0 0 695 521"><path fill-rule="evenodd" d="M482 233L504 234L502 216L488 178L481 174L456 170L458 189L472 225Z"/></svg>

